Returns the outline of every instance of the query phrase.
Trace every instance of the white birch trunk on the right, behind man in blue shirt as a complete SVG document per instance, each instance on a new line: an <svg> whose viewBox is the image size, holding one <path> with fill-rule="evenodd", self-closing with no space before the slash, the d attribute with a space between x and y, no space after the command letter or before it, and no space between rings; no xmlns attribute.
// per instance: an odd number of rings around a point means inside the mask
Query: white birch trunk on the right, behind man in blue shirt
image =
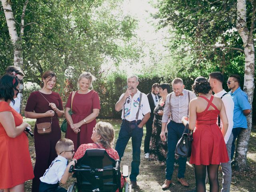
<svg viewBox="0 0 256 192"><path fill-rule="evenodd" d="M255 50L253 41L253 29L255 20L255 5L252 12L252 24L250 31L248 30L246 23L246 0L237 0L237 23L236 29L240 34L244 43L244 92L248 95L250 105L252 107L252 100L254 94L254 73L255 73ZM247 116L248 128L242 130L238 136L236 155L235 155L235 169L238 171L246 170L246 156L248 152L248 144L250 139L250 133L252 130L252 113Z"/></svg>

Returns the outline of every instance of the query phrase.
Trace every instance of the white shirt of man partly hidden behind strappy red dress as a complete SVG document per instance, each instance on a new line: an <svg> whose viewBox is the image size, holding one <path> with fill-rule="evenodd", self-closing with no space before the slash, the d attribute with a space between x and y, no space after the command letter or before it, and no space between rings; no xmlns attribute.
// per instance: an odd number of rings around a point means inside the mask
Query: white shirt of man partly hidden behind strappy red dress
<svg viewBox="0 0 256 192"><path fill-rule="evenodd" d="M218 93L215 93L214 96L217 96L217 97L222 97L223 94L225 94L226 91L225 90L222 90ZM226 135L224 136L224 140L225 140L225 143L228 142L228 139L230 137L230 134L232 132L232 128L233 128L233 115L234 115L234 101L231 97L230 94L226 94L222 97L222 101L224 103L224 106L225 106L225 110L226 110L226 115L228 117L228 130L226 132ZM217 122L218 124L218 122ZM220 120L220 128L222 128L222 121Z"/></svg>

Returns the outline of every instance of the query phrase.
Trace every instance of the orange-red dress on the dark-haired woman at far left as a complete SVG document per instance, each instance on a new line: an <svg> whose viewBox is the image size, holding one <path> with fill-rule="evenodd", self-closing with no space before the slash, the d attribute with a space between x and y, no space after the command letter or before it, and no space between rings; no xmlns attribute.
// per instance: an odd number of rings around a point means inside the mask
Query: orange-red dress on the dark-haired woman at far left
<svg viewBox="0 0 256 192"><path fill-rule="evenodd" d="M14 116L15 126L23 119L7 102L0 102L0 112L10 111ZM10 138L0 123L0 189L12 188L34 178L28 150L28 137L22 132Z"/></svg>

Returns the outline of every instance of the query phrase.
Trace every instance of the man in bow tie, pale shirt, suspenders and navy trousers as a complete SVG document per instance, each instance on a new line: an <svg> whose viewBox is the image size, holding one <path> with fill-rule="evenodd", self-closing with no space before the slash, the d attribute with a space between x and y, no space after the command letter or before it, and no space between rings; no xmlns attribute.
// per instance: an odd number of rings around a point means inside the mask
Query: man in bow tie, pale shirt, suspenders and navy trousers
<svg viewBox="0 0 256 192"><path fill-rule="evenodd" d="M162 117L162 131L160 138L165 140L165 127L168 122L169 114L171 112L171 121L167 125L167 159L166 159L166 181L162 185L162 189L169 188L172 184L172 174L174 171L174 156L175 148L178 140L181 138L185 126L182 123L182 117L188 116L188 105L190 100L196 98L196 95L189 90L184 89L184 84L181 78L175 78L172 81L172 90L167 95L166 104L164 106L164 114ZM179 157L179 170L178 170L178 182L182 186L188 187L189 184L184 179L186 170L187 158Z"/></svg>

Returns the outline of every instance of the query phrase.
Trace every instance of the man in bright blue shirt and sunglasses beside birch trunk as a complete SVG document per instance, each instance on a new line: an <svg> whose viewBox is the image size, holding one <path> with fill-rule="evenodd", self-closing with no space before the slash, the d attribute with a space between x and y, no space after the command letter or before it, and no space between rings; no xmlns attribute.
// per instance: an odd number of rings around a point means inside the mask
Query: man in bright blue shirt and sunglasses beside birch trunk
<svg viewBox="0 0 256 192"><path fill-rule="evenodd" d="M235 151L235 141L238 135L240 134L242 128L247 129L247 120L246 116L248 116L251 112L251 106L248 102L248 96L245 92L243 92L240 88L240 76L238 75L230 75L227 81L228 88L231 89L228 92L234 101L234 125L232 129L233 133L233 142L231 148L231 160L234 156Z"/></svg>

